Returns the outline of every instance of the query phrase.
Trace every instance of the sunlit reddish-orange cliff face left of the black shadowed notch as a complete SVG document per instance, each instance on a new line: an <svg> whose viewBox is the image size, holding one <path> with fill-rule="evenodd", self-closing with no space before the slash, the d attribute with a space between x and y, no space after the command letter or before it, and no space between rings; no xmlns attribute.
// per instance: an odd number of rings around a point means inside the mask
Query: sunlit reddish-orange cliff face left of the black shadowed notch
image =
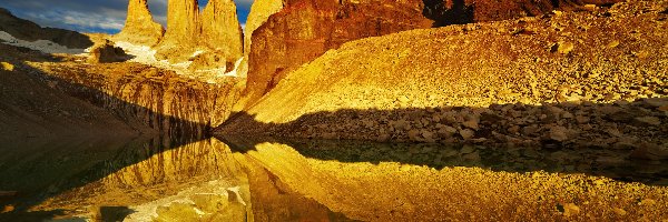
<svg viewBox="0 0 668 222"><path fill-rule="evenodd" d="M286 1L253 32L248 60L249 102L259 99L296 67L344 42L429 28L421 0Z"/></svg>

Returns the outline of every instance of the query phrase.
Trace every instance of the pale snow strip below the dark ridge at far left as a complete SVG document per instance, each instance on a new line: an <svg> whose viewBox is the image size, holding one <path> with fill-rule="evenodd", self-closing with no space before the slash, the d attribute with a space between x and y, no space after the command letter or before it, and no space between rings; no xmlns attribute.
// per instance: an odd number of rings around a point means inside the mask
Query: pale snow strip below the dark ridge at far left
<svg viewBox="0 0 668 222"><path fill-rule="evenodd" d="M9 46L28 48L31 50L41 51L43 53L80 54L80 53L85 52L84 49L70 49L70 48L60 46L60 44L49 41L49 40L37 40L37 41L32 41L32 42L20 40L4 31L0 31L0 40L4 41L2 43L9 44Z"/></svg>

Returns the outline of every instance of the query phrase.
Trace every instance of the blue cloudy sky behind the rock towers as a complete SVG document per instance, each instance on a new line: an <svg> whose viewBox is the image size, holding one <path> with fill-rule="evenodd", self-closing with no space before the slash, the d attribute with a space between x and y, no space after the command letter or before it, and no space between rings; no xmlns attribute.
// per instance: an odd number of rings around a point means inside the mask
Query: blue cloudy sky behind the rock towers
<svg viewBox="0 0 668 222"><path fill-rule="evenodd" d="M234 0L239 23L245 26L253 0ZM204 9L208 0L199 0ZM0 0L0 8L42 27L80 32L116 33L122 29L128 0ZM167 26L167 0L148 0L154 20Z"/></svg>

